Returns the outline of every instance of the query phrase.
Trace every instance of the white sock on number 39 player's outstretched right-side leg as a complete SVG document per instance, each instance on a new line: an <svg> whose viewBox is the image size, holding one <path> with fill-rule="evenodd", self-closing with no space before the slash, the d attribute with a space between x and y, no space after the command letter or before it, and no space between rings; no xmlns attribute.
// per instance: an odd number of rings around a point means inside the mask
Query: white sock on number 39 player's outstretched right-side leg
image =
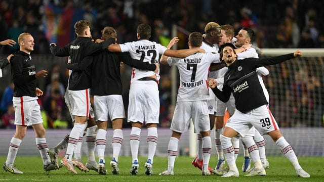
<svg viewBox="0 0 324 182"><path fill-rule="evenodd" d="M295 169L301 169L302 167L299 165L297 156L293 150L293 148L290 146L290 144L286 141L284 136L281 136L275 144L280 147L281 153L284 154L285 157L294 165Z"/></svg>

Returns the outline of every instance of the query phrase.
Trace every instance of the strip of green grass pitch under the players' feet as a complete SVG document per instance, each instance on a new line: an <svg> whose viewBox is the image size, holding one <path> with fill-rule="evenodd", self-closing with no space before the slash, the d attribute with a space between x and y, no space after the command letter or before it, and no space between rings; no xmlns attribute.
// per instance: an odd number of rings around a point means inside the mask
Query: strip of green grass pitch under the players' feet
<svg viewBox="0 0 324 182"><path fill-rule="evenodd" d="M304 170L311 177L300 178L296 176L294 167L284 156L272 157L268 156L270 168L266 170L266 176L245 177L244 172L240 172L239 177L224 178L216 175L202 176L197 168L191 165L192 158L177 157L174 169L174 176L159 176L158 173L165 170L168 166L166 157L155 157L153 164L153 175L146 176L144 174L145 158L139 158L140 167L139 174L132 176L129 173L131 167L130 157L119 157L118 175L112 175L107 160L107 175L99 175L95 171L88 173L77 170L78 174L69 173L65 167L50 172L43 171L43 163L40 156L17 156L15 165L22 170L24 174L11 174L1 170L0 181L324 181L324 158L323 157L299 157L299 162ZM2 164L6 161L6 157L0 157ZM83 158L86 162L86 158ZM237 159L238 169L241 169L243 157ZM212 156L211 167L215 167L216 159Z"/></svg>

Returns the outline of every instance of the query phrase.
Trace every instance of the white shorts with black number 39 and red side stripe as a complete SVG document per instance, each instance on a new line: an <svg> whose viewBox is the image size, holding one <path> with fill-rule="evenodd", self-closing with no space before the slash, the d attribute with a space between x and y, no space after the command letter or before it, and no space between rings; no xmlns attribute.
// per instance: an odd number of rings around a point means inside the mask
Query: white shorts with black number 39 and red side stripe
<svg viewBox="0 0 324 182"><path fill-rule="evenodd" d="M279 129L268 105L260 106L247 113L236 110L232 117L226 122L226 127L230 127L244 137L254 126L261 135Z"/></svg>

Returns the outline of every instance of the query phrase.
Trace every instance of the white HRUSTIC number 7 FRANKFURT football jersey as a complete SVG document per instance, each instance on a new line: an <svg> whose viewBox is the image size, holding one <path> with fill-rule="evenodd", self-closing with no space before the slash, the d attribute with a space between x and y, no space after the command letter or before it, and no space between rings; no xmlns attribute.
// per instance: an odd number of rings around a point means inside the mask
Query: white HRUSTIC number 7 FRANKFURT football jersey
<svg viewBox="0 0 324 182"><path fill-rule="evenodd" d="M215 53L196 53L186 58L168 58L168 64L177 65L180 73L180 86L177 102L203 101L209 98L208 69L219 57Z"/></svg>

